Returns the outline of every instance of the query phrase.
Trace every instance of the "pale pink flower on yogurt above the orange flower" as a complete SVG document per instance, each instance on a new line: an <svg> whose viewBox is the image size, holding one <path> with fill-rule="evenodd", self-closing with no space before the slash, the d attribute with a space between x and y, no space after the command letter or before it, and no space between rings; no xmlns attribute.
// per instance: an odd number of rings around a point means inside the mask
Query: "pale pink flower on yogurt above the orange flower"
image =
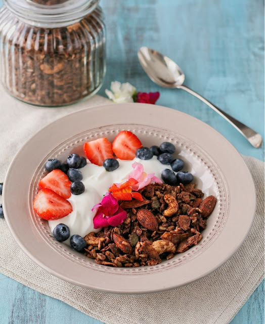
<svg viewBox="0 0 265 324"><path fill-rule="evenodd" d="M129 179L133 178L138 181L137 184L131 186L133 190L140 190L150 183L162 183L159 178L155 177L154 173L145 173L144 166L141 163L135 162L132 164L132 168L134 168L134 171L129 174Z"/></svg>

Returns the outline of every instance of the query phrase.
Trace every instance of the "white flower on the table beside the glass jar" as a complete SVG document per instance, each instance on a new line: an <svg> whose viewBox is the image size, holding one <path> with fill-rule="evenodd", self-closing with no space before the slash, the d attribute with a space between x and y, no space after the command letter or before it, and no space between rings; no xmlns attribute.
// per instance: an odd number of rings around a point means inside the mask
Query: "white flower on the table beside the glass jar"
<svg viewBox="0 0 265 324"><path fill-rule="evenodd" d="M136 93L136 88L130 85L129 83L121 84L118 81L114 81L111 83L110 90L106 89L106 95L113 102L134 102L132 96Z"/></svg>

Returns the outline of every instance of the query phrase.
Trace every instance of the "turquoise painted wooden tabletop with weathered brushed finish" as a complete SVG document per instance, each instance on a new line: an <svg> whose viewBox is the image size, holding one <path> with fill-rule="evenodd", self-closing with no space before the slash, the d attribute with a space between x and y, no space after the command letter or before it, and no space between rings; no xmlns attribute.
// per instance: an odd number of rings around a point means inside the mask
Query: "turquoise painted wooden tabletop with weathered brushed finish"
<svg viewBox="0 0 265 324"><path fill-rule="evenodd" d="M240 153L263 159L264 145L253 148L225 119L188 93L157 87L137 59L141 46L168 55L184 70L188 87L264 134L261 0L102 0L101 5L106 14L108 52L100 95L105 96L112 80L129 82L139 91L160 91L158 104L203 120ZM264 282L232 324L264 323L263 294ZM0 305L1 324L101 323L2 274Z"/></svg>

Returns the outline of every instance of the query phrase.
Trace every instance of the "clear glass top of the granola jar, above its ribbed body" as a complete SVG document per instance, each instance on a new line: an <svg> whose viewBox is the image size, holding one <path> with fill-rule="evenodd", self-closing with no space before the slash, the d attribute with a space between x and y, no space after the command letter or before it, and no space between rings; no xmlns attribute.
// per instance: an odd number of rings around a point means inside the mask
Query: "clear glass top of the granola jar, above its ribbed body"
<svg viewBox="0 0 265 324"><path fill-rule="evenodd" d="M91 13L100 0L4 0L20 19L37 27L61 27Z"/></svg>

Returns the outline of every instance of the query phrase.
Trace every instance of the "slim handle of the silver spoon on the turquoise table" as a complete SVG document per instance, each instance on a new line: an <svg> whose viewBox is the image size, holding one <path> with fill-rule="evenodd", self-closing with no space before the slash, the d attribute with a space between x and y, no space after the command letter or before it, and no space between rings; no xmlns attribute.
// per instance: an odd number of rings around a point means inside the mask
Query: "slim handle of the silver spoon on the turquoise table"
<svg viewBox="0 0 265 324"><path fill-rule="evenodd" d="M194 92L193 90L191 90L190 88L188 88L184 85L178 86L178 89L183 89L183 90L189 92L190 94L194 95L195 97L199 98L201 101L206 103L206 105L211 107L213 110L218 112L219 115L221 115L227 121L229 121L229 123L231 125L233 125L254 147L257 148L262 144L262 137L260 134L256 133L251 128L247 127L246 125L240 123L240 121L238 121L234 117L230 116L228 113L221 110L220 108L216 107L210 101L206 100L205 98L203 98L202 96L200 96L199 94L197 94L196 92Z"/></svg>

